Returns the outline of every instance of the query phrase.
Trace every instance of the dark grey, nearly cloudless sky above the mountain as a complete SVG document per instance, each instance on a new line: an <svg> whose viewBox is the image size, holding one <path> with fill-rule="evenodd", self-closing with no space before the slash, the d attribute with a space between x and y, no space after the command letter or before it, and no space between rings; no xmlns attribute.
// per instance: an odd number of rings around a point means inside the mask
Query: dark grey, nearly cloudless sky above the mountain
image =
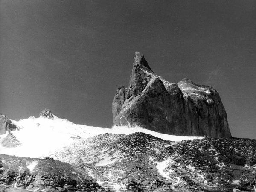
<svg viewBox="0 0 256 192"><path fill-rule="evenodd" d="M135 51L214 87L233 137L256 138L255 0L0 0L0 113L111 127Z"/></svg>

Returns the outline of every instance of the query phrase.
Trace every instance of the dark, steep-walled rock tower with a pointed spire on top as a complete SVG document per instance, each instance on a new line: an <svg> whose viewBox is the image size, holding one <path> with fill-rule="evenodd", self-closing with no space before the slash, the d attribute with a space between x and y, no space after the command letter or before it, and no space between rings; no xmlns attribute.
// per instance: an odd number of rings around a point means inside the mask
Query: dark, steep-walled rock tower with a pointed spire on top
<svg viewBox="0 0 256 192"><path fill-rule="evenodd" d="M128 89L116 90L113 125L142 126L164 134L231 137L218 92L189 79L170 83L135 53Z"/></svg>

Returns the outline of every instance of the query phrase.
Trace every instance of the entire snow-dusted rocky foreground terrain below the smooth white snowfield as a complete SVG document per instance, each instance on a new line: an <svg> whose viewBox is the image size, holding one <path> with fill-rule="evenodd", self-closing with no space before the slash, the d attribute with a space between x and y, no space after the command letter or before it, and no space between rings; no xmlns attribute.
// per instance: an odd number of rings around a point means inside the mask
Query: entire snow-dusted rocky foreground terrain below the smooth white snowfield
<svg viewBox="0 0 256 192"><path fill-rule="evenodd" d="M100 134L47 158L0 155L2 191L255 191L256 140Z"/></svg>

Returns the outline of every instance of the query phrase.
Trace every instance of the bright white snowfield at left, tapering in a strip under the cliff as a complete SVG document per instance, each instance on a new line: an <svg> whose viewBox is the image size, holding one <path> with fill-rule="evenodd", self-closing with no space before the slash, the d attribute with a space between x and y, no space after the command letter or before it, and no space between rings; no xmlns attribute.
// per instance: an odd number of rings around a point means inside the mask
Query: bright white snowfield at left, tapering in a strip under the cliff
<svg viewBox="0 0 256 192"><path fill-rule="evenodd" d="M11 138L17 140L19 145L3 146L1 144L0 154L19 157L45 157L52 151L69 146L71 143L76 143L82 139L104 133L128 135L135 132L144 132L169 141L203 138L160 134L140 127L102 128L77 125L67 119L58 118L57 116L54 116L53 119L29 117L28 119L21 119L20 121L12 120L12 122L18 128L15 131L11 131ZM8 133L0 135L0 143L6 140L7 135Z"/></svg>

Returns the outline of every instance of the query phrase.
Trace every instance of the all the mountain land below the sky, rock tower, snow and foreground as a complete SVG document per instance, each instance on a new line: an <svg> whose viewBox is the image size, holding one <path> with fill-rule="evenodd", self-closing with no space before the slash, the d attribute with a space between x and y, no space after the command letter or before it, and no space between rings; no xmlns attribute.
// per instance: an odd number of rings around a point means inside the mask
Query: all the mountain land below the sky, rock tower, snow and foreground
<svg viewBox="0 0 256 192"><path fill-rule="evenodd" d="M136 52L112 107L112 128L0 115L0 192L256 191L256 140L231 137L212 87L170 83Z"/></svg>

